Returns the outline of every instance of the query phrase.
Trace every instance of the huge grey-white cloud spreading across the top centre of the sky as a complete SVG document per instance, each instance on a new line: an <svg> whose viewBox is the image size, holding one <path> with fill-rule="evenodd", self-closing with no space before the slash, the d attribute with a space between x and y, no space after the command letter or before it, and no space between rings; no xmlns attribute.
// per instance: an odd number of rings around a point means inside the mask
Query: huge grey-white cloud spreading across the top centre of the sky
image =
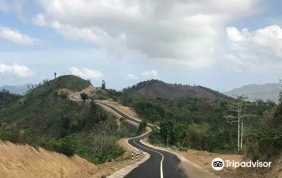
<svg viewBox="0 0 282 178"><path fill-rule="evenodd" d="M215 63L227 21L259 12L259 0L37 0L33 22L111 55L193 68ZM136 28L138 27L138 28ZM136 57L137 56L137 57Z"/></svg>

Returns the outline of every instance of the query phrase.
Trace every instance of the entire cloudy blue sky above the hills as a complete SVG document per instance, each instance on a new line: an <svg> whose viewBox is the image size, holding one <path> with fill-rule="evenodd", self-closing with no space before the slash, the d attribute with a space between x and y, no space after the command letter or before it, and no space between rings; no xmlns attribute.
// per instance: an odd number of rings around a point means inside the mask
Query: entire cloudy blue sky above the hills
<svg viewBox="0 0 282 178"><path fill-rule="evenodd" d="M60 75L229 91L282 78L279 0L0 0L0 86Z"/></svg>

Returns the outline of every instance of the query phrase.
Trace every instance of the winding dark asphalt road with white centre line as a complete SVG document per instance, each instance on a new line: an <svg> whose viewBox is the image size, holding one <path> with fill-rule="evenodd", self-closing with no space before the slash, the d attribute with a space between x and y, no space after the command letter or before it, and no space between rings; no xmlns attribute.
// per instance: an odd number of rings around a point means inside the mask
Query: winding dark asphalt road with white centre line
<svg viewBox="0 0 282 178"><path fill-rule="evenodd" d="M97 89L98 87L95 88L95 90ZM70 97L73 99L80 99L78 96L79 94ZM121 111L118 111L113 106L99 101L97 101L97 103L111 108L113 111L117 112L119 115L123 116L124 118L130 121L133 121L138 124L140 123L139 121L134 120L133 118L127 116ZM151 128L152 131L157 130L157 128L154 126L148 125L148 127ZM179 167L180 160L174 154L146 146L140 142L140 140L148 137L150 134L151 132L145 136L140 136L138 138L128 140L128 143L130 145L142 149L143 151L149 153L151 157L147 161L133 169L124 178L187 178L185 173Z"/></svg>

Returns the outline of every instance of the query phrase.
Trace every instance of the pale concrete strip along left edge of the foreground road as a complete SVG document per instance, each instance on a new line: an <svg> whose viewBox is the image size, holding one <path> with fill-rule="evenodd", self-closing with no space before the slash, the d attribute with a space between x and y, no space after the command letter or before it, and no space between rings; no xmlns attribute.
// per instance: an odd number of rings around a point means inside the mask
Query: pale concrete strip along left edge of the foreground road
<svg viewBox="0 0 282 178"><path fill-rule="evenodd" d="M127 143L128 146L131 146L128 143L128 139L126 140L126 143ZM135 147L133 147L133 148L136 151L139 151L137 148L135 148ZM143 153L144 153L145 157L142 160L138 161L137 163L135 163L133 165L126 166L126 167L124 167L124 168L114 172L112 175L107 176L107 178L123 178L124 176L128 175L128 173L130 171L132 171L134 168L136 168L137 166L139 166L140 164L144 163L145 161L147 161L150 158L151 155L149 153L144 152L144 151L143 151Z"/></svg>

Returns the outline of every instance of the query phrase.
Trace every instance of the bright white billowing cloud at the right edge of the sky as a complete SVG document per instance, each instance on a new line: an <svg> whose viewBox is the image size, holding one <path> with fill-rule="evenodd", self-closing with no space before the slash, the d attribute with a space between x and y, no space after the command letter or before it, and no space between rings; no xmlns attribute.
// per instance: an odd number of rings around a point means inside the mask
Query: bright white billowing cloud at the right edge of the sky
<svg viewBox="0 0 282 178"><path fill-rule="evenodd" d="M282 29L272 25L249 32L227 27L227 67L236 72L272 73L282 69Z"/></svg>

